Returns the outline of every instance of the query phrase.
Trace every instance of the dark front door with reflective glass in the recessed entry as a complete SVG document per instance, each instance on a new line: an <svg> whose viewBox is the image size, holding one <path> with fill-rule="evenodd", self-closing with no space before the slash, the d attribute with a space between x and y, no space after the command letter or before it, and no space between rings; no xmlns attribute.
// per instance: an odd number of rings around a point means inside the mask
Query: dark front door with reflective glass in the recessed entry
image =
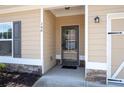
<svg viewBox="0 0 124 93"><path fill-rule="evenodd" d="M62 65L79 65L79 26L62 26Z"/></svg>

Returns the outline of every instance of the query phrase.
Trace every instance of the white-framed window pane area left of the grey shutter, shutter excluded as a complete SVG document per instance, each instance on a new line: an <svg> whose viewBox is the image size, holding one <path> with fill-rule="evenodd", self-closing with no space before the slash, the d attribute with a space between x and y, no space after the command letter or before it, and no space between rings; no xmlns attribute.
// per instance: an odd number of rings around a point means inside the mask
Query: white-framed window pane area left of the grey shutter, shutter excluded
<svg viewBox="0 0 124 93"><path fill-rule="evenodd" d="M12 56L12 22L0 23L0 56Z"/></svg>

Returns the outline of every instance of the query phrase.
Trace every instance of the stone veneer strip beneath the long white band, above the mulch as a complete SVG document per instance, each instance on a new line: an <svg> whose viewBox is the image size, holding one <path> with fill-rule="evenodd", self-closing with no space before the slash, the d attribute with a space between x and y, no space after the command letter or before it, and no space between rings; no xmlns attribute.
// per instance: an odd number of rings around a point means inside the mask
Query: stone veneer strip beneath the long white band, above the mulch
<svg viewBox="0 0 124 93"><path fill-rule="evenodd" d="M24 64L9 64L6 63L7 72L21 72L21 73L32 73L42 75L42 67L35 65L24 65Z"/></svg>

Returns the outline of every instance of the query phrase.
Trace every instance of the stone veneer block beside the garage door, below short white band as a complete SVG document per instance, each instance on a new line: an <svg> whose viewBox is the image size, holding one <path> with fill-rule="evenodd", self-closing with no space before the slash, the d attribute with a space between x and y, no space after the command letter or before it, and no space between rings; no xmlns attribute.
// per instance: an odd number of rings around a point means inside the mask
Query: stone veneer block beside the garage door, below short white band
<svg viewBox="0 0 124 93"><path fill-rule="evenodd" d="M106 71L104 70L87 69L86 81L106 84L106 77L107 74Z"/></svg>

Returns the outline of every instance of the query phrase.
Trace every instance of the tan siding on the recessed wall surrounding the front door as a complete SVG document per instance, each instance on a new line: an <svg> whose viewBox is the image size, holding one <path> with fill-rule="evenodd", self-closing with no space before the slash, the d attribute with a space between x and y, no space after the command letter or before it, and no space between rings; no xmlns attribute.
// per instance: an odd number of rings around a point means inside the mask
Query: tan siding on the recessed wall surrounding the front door
<svg viewBox="0 0 124 93"><path fill-rule="evenodd" d="M79 25L80 55L84 55L84 15L56 17L56 55L61 55L61 26Z"/></svg>

